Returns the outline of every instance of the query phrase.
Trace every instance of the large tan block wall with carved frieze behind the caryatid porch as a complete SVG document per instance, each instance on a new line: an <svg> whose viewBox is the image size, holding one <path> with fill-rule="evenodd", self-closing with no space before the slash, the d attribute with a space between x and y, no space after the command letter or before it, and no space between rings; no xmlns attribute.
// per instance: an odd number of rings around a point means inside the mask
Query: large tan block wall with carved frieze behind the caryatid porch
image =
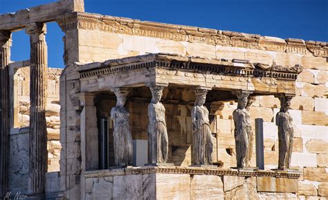
<svg viewBox="0 0 328 200"><path fill-rule="evenodd" d="M80 14L79 14L80 15ZM194 28L152 22L140 22L132 19L103 17L100 15L81 14L57 20L66 32L65 60L66 77L62 78L61 104L65 109L62 112L68 125L63 127L62 134L78 138L80 125L79 111L76 103L69 95L79 92L78 75L73 68L73 62L102 62L113 58L143 55L145 53L177 53L217 59L242 59L250 62L295 66L300 64L304 71L296 82L296 97L293 98L290 113L294 122L294 147L291 165L303 172L299 179L300 199L328 196L328 63L326 43L304 42L301 39L280 39L276 37L260 37L242 33L222 32L206 28ZM78 21L78 22L77 22ZM150 28L149 28L150 27ZM66 92L66 93L65 93ZM214 129L217 131L217 155L223 167L236 165L235 138L233 137L232 113L237 107L235 102L223 102L224 106L217 111ZM172 109L165 104L167 115L179 110ZM275 113L280 108L280 102L273 96L258 96L250 107L250 114L254 124L255 118L264 120L265 167L271 169L277 166L277 127L275 127ZM129 106L130 109L130 106ZM134 114L131 120L140 117ZM189 120L182 109L184 116L176 115L180 120ZM146 112L144 109L140 113ZM173 112L174 113L174 112ZM145 113L143 113L145 116ZM188 114L187 114L188 115ZM147 121L144 121L145 123ZM138 126L138 124L135 124ZM175 124L174 126L179 126ZM75 127L75 129L73 128ZM169 129L173 129L170 128ZM188 131L188 123L181 129ZM180 131L181 131L180 129ZM253 129L254 125L253 125ZM177 134L170 131L169 134ZM136 134L134 134L136 137ZM79 140L71 142L79 144ZM170 140L174 143L174 140ZM68 141L62 141L69 144ZM182 147L179 146L178 147ZM69 152L70 145L66 146ZM255 148L255 146L254 146ZM255 151L253 151L255 152ZM190 151L185 151L190 157ZM63 154L65 156L65 154ZM80 154L69 158L66 177L69 177L71 193L79 190L76 177L80 173ZM62 159L66 159L62 157ZM255 165L255 154L252 165Z"/></svg>

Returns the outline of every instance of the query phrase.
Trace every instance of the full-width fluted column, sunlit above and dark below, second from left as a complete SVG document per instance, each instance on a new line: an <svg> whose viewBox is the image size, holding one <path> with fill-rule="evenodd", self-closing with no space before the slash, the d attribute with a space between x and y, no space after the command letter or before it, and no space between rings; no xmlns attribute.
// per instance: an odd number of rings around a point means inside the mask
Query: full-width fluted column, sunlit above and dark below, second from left
<svg viewBox="0 0 328 200"><path fill-rule="evenodd" d="M30 35L30 163L28 190L31 194L43 196L48 161L45 116L48 69L46 25L29 24L26 26L26 33Z"/></svg>

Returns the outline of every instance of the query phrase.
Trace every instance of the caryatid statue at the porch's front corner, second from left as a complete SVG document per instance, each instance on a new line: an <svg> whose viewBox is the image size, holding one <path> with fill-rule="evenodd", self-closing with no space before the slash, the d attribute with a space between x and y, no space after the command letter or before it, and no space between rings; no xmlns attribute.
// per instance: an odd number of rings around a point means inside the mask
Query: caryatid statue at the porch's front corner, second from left
<svg viewBox="0 0 328 200"><path fill-rule="evenodd" d="M152 102L148 106L148 162L152 164L167 162L168 138L165 107L160 102L163 89L163 86L150 86Z"/></svg>

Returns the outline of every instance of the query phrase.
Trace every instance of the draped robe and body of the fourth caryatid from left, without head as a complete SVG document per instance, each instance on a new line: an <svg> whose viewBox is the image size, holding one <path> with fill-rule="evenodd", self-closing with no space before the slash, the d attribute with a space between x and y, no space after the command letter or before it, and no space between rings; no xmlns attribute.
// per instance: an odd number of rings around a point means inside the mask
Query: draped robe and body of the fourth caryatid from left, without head
<svg viewBox="0 0 328 200"><path fill-rule="evenodd" d="M235 121L237 167L248 167L252 152L250 149L252 146L248 142L252 134L250 114L246 109L235 109L233 120Z"/></svg>

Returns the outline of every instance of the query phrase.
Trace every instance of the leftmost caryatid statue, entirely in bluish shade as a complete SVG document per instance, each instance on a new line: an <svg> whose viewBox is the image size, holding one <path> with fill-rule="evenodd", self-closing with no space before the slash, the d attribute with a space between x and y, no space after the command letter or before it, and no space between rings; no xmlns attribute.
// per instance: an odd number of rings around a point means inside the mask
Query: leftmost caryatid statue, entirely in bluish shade
<svg viewBox="0 0 328 200"><path fill-rule="evenodd" d="M132 165L133 145L129 126L129 111L124 105L129 91L113 89L116 95L116 107L111 109L113 119L114 162L116 166Z"/></svg>

